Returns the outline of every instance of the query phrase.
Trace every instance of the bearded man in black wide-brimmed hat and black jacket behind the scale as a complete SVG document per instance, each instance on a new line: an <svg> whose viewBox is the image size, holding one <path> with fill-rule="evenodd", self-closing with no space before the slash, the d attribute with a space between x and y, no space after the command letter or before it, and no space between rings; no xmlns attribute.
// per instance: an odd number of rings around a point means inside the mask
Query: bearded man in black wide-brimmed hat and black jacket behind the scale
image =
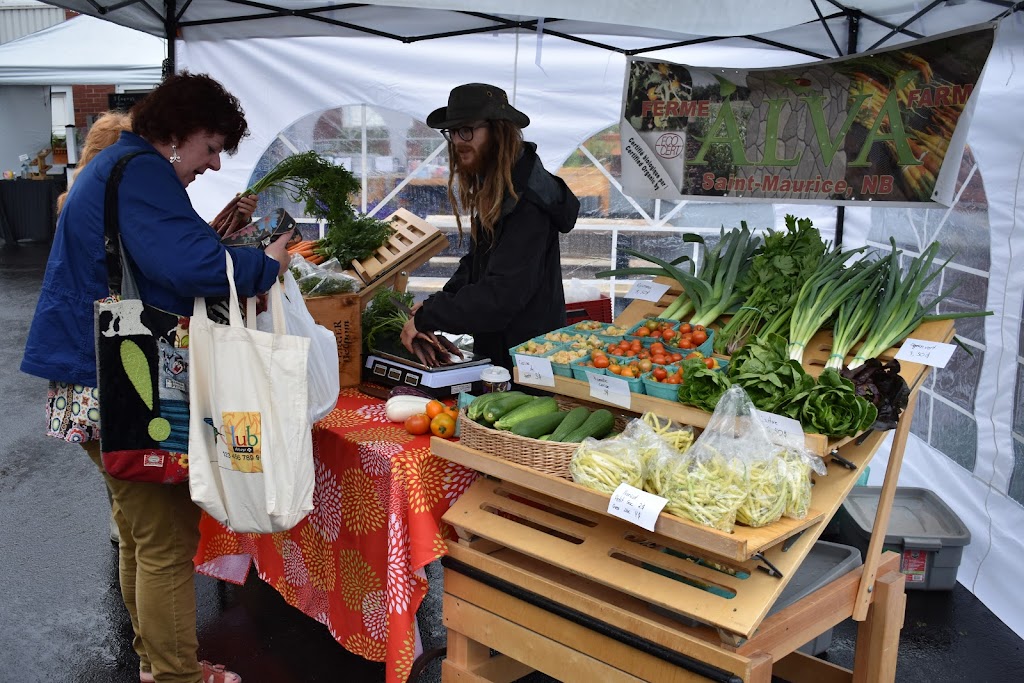
<svg viewBox="0 0 1024 683"><path fill-rule="evenodd" d="M460 236L470 216L471 240L441 291L417 306L402 343L422 353L429 333L471 334L476 357L511 369L510 348L565 325L559 234L575 225L580 202L523 141L529 117L503 89L460 85L427 125L447 140L449 201Z"/></svg>

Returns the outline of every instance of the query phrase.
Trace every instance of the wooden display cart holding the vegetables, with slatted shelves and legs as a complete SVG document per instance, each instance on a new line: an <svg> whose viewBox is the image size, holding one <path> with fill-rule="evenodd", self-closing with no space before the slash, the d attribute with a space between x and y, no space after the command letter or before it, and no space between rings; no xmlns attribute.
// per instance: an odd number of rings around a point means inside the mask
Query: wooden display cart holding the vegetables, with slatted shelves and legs
<svg viewBox="0 0 1024 683"><path fill-rule="evenodd" d="M951 323L928 323L911 337L949 341L952 333ZM824 335L809 345L827 346ZM809 353L808 371L817 374L826 355ZM809 447L830 457L808 517L762 528L736 526L732 533L667 513L649 532L607 515L605 494L432 439L436 455L488 475L444 516L459 542L450 544L442 560L449 633L442 680L513 681L538 670L559 680L601 683L767 683L772 675L893 681L905 596L900 556L883 553L882 543L928 371L902 364L910 401L895 430L863 565L767 618L887 434L831 442L809 438ZM557 393L593 400L586 382L556 377L555 383ZM635 396L631 410L696 426L709 417L650 396ZM860 622L852 671L797 651L851 616Z"/></svg>

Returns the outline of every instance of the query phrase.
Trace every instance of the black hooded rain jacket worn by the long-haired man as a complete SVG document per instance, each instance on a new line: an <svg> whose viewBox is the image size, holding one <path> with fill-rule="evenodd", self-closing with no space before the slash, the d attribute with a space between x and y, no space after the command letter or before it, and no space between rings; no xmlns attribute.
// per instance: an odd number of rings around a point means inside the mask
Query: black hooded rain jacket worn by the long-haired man
<svg viewBox="0 0 1024 683"><path fill-rule="evenodd" d="M416 311L416 328L473 335L473 352L512 369L509 348L565 325L558 236L575 225L580 201L523 143L512 168L519 201L505 197L490 241L477 230L440 292ZM475 219L474 219L475 220Z"/></svg>

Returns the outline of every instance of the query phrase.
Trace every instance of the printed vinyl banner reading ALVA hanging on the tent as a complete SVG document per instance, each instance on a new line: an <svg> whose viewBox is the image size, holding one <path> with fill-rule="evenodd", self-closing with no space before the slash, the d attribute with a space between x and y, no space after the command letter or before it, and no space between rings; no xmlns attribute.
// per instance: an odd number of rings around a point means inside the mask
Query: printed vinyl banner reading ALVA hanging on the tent
<svg viewBox="0 0 1024 683"><path fill-rule="evenodd" d="M986 26L765 70L631 58L623 189L666 200L948 205L993 40Z"/></svg>

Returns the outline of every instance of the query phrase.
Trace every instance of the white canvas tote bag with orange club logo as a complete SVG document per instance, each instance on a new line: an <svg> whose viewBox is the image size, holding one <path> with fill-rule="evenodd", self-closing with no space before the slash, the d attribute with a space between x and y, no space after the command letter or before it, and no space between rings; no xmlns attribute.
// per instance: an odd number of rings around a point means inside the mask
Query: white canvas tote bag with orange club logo
<svg viewBox="0 0 1024 683"><path fill-rule="evenodd" d="M193 501L234 531L292 528L312 510L312 434L307 410L309 340L285 334L281 285L270 288L273 333L242 322L231 255L229 324L196 299L188 326L188 486Z"/></svg>

